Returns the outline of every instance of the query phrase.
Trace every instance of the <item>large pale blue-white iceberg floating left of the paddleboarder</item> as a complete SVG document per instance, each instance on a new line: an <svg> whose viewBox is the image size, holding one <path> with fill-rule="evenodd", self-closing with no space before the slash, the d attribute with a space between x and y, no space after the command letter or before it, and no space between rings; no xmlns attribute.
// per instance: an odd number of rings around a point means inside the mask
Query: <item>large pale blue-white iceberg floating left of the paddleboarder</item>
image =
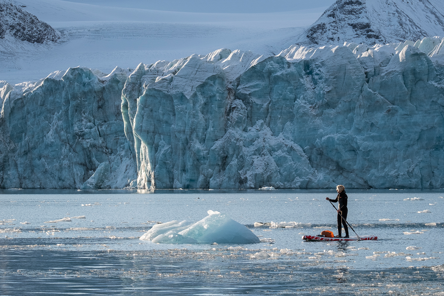
<svg viewBox="0 0 444 296"><path fill-rule="evenodd" d="M226 243L254 244L259 242L245 225L242 225L227 214L209 210L208 216L194 224L186 221L170 221L156 224L140 240L154 243L195 244Z"/></svg>

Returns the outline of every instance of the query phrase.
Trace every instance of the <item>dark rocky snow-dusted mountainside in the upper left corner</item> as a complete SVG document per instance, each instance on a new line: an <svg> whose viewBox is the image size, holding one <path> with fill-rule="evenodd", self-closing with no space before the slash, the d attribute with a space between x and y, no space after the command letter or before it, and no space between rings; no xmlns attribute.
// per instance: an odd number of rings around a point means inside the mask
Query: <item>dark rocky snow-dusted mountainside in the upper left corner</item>
<svg viewBox="0 0 444 296"><path fill-rule="evenodd" d="M19 6L0 0L0 39L6 36L30 43L45 43L57 41L61 34Z"/></svg>

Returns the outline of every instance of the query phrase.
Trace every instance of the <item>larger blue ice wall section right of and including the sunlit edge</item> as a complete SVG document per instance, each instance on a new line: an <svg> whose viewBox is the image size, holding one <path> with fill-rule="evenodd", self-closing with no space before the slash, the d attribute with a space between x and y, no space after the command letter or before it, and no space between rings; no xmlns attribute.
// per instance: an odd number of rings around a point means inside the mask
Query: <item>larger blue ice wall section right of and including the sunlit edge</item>
<svg viewBox="0 0 444 296"><path fill-rule="evenodd" d="M139 187L443 187L442 66L410 43L139 65L122 95Z"/></svg>

